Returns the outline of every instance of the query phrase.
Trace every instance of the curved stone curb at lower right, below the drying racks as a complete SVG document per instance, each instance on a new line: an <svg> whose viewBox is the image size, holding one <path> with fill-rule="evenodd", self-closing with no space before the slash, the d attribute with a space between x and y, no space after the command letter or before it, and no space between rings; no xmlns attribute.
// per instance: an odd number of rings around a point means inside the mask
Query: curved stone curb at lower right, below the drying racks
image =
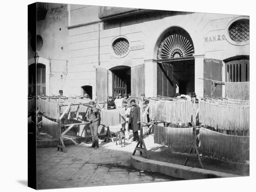
<svg viewBox="0 0 256 192"><path fill-rule="evenodd" d="M135 169L141 171L157 172L171 177L182 179L242 177L240 175L216 172L189 166L182 166L173 163L145 159L143 157L133 155L131 156L131 164Z"/></svg>

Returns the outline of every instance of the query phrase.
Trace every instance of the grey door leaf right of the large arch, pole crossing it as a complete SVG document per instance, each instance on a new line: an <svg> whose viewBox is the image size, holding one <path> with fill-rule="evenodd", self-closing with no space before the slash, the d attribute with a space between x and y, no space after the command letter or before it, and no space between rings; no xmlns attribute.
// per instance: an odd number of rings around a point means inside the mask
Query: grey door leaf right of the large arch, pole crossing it
<svg viewBox="0 0 256 192"><path fill-rule="evenodd" d="M203 78L222 81L222 60L205 59L203 68ZM203 81L203 92L204 96L211 97L213 92L211 81ZM213 96L222 97L222 85L216 86Z"/></svg>

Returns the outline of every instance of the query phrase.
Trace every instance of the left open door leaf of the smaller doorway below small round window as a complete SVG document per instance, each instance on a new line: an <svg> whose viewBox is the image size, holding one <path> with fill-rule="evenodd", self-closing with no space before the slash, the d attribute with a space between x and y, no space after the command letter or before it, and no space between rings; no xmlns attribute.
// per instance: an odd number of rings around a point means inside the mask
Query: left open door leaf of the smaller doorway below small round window
<svg viewBox="0 0 256 192"><path fill-rule="evenodd" d="M96 68L96 99L98 101L108 99L108 69Z"/></svg>

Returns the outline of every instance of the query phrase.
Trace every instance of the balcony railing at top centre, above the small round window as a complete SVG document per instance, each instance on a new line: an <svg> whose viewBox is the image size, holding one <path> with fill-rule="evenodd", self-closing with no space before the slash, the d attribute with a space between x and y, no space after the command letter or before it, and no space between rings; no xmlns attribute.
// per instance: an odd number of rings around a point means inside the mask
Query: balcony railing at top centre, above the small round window
<svg viewBox="0 0 256 192"><path fill-rule="evenodd" d="M126 8L126 7L100 7L99 8L99 19L109 19L111 17L121 16L127 13L134 13L139 11L137 8Z"/></svg>

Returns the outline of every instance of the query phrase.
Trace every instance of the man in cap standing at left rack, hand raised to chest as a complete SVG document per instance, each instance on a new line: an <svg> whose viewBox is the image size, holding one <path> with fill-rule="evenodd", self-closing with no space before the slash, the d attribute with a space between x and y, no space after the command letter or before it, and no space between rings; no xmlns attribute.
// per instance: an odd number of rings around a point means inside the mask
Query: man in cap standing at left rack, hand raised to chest
<svg viewBox="0 0 256 192"><path fill-rule="evenodd" d="M94 101L90 101L89 105L90 107L88 109L87 119L90 122L90 129L91 129L91 134L93 139L93 143L91 147L94 147L94 149L98 149L99 148L98 127L99 127L100 113L94 107Z"/></svg>

